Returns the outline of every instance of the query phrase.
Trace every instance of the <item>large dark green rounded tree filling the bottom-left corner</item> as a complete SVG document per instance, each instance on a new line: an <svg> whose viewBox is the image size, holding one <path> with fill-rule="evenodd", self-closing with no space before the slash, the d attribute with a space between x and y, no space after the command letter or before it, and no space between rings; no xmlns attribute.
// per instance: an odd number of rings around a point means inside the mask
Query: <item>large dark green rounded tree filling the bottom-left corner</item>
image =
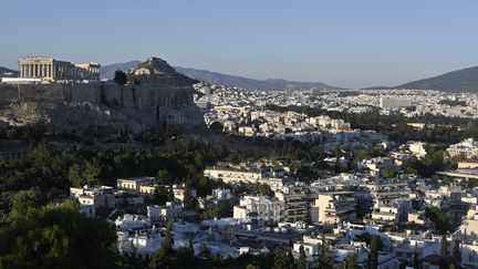
<svg viewBox="0 0 478 269"><path fill-rule="evenodd" d="M18 206L0 226L0 268L116 268L116 240L74 203Z"/></svg>

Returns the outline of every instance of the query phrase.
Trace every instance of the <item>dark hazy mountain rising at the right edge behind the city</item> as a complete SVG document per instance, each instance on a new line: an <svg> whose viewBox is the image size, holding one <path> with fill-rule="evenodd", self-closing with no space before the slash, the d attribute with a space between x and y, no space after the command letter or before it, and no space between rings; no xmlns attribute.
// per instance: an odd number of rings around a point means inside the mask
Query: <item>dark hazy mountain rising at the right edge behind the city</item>
<svg viewBox="0 0 478 269"><path fill-rule="evenodd" d="M430 79L405 83L395 89L478 92L478 66L461 69Z"/></svg>

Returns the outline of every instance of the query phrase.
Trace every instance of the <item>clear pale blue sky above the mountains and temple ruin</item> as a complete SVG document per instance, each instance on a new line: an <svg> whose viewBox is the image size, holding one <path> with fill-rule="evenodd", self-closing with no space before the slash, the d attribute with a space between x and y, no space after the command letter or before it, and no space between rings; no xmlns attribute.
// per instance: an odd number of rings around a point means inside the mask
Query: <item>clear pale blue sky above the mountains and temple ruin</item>
<svg viewBox="0 0 478 269"><path fill-rule="evenodd" d="M156 55L251 79L394 86L478 65L477 14L476 0L15 0L0 4L0 66Z"/></svg>

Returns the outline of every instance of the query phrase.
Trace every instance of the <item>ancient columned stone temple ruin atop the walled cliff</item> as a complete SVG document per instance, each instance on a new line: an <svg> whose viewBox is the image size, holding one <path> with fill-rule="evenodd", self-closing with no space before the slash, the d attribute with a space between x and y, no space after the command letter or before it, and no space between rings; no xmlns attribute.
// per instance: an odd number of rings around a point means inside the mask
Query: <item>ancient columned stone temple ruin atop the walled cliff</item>
<svg viewBox="0 0 478 269"><path fill-rule="evenodd" d="M100 80L98 63L75 64L45 56L19 59L20 76L48 81L58 80Z"/></svg>

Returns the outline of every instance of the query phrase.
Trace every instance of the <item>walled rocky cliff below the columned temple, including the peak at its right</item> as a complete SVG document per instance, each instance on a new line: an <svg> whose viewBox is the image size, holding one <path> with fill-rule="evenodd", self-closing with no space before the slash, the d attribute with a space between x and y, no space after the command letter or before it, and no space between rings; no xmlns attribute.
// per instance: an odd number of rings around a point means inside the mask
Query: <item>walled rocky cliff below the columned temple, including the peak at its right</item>
<svg viewBox="0 0 478 269"><path fill-rule="evenodd" d="M92 125L147 130L166 121L194 127L204 124L193 102L194 80L152 58L132 70L131 83L0 84L0 122L37 121L55 130L85 131Z"/></svg>

